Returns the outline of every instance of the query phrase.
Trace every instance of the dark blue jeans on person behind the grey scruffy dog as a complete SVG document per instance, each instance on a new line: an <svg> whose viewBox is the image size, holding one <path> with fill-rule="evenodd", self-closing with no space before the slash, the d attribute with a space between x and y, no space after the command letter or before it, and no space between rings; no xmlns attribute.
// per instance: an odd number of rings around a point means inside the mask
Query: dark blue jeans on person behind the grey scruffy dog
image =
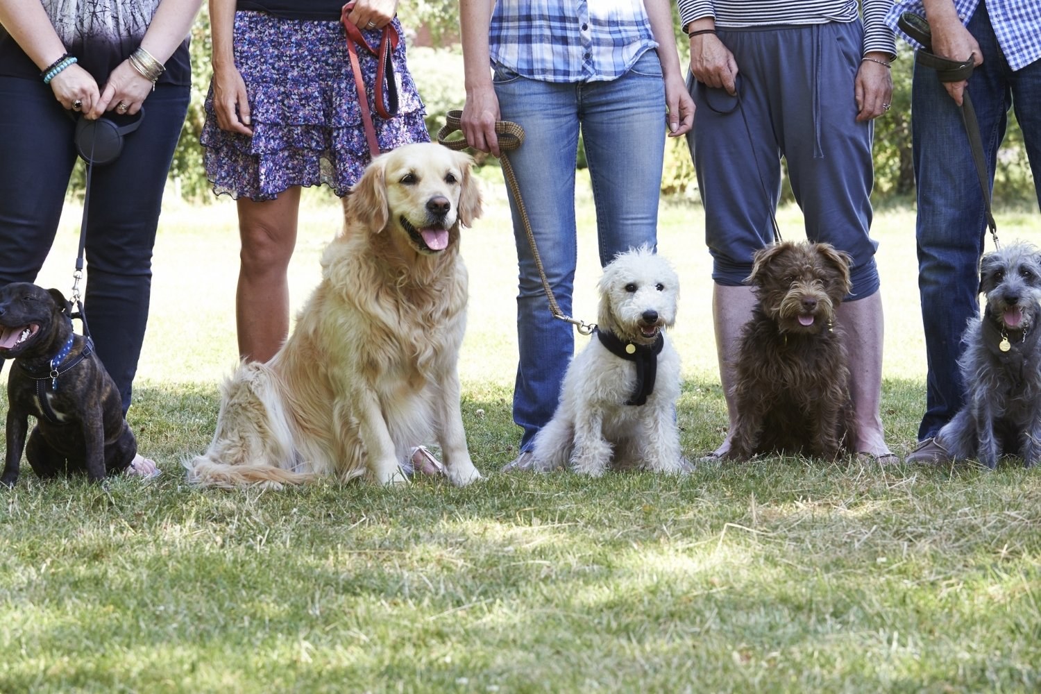
<svg viewBox="0 0 1041 694"><path fill-rule="evenodd" d="M981 2L968 29L983 65L969 79L984 154L993 186L994 162L1015 106L1041 204L1041 60L1013 72ZM935 436L961 408L958 368L962 333L980 313L977 264L986 245L984 199L958 105L936 72L914 67L912 143L918 188L918 290L929 375L919 440Z"/></svg>

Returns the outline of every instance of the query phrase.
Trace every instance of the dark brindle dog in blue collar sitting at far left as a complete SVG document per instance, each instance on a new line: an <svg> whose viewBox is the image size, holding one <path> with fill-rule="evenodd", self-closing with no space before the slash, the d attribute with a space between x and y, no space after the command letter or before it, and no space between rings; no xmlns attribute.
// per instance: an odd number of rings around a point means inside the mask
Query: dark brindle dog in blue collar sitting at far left
<svg viewBox="0 0 1041 694"><path fill-rule="evenodd" d="M57 289L28 282L0 288L0 359L7 378L7 456L0 483L18 482L22 447L41 478L123 472L137 442L91 340L72 332L72 306ZM28 416L36 418L26 444Z"/></svg>

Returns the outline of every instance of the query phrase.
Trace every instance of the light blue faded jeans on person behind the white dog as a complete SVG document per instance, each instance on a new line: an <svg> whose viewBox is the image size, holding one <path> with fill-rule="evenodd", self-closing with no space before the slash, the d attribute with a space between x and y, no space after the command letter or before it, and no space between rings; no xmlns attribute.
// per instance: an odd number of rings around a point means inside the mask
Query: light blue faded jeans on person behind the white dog
<svg viewBox="0 0 1041 694"><path fill-rule="evenodd" d="M655 51L645 52L612 81L557 83L498 70L503 120L525 129L509 152L525 209L554 297L572 313L578 242L575 163L579 131L596 208L601 265L630 248L657 243L658 198L665 143L665 89ZM570 324L553 317L528 237L510 197L519 273L513 420L524 430L520 449L553 416L560 383L575 353ZM590 287L591 289L591 287Z"/></svg>

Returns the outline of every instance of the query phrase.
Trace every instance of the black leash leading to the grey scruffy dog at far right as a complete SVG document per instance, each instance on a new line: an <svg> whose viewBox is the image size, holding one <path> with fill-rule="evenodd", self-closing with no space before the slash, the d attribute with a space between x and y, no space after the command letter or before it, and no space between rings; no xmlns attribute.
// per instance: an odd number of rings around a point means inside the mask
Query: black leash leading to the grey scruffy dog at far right
<svg viewBox="0 0 1041 694"><path fill-rule="evenodd" d="M950 60L942 58L933 53L933 32L929 27L925 18L914 12L904 12L896 21L896 26L900 31L921 45L915 51L915 62L936 71L936 76L941 82L961 82L967 80L972 75L975 67L972 56L967 60ZM980 179L980 188L983 190L984 209L987 216L987 227L990 235L994 239L994 248L999 248L997 242L997 223L994 222L994 214L990 206L990 178L987 176L987 158L983 151L983 138L980 135L980 123L976 121L975 108L972 106L972 99L969 91L962 93L962 123L965 124L965 134L969 138L969 150L972 152L972 162L975 164L976 177Z"/></svg>

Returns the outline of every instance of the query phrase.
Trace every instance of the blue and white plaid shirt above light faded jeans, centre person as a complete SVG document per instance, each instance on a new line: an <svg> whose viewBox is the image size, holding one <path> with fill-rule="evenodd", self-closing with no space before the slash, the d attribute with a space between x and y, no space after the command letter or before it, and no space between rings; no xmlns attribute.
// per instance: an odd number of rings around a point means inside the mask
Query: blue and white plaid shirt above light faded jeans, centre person
<svg viewBox="0 0 1041 694"><path fill-rule="evenodd" d="M657 48L642 0L498 0L491 65L544 82L612 80Z"/></svg>

